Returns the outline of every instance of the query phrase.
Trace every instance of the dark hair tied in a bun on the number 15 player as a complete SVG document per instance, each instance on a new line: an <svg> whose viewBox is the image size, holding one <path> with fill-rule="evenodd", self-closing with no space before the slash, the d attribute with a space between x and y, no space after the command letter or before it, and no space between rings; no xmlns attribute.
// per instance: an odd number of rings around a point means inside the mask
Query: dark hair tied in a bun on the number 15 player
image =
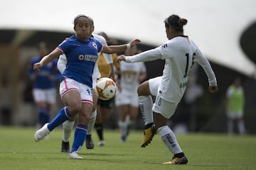
<svg viewBox="0 0 256 170"><path fill-rule="evenodd" d="M166 28L174 28L177 31L183 31L183 26L188 23L185 18L180 18L177 15L171 15L164 20Z"/></svg>

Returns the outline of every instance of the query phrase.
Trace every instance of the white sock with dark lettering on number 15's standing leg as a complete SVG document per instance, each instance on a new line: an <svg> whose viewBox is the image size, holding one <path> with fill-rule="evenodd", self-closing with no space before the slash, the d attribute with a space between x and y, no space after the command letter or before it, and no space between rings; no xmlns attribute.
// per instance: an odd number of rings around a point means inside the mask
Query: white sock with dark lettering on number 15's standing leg
<svg viewBox="0 0 256 170"><path fill-rule="evenodd" d="M161 140L173 154L181 153L181 147L178 145L174 132L169 128L168 125L162 126L158 129Z"/></svg>

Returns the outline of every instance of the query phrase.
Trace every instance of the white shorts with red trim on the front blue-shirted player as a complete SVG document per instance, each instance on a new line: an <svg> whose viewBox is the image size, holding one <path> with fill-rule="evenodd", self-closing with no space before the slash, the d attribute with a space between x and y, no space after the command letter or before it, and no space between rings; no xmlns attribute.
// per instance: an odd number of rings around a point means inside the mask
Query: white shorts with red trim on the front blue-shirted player
<svg viewBox="0 0 256 170"><path fill-rule="evenodd" d="M92 88L89 86L73 79L63 79L60 82L60 97L62 98L70 90L79 91L82 102L92 103Z"/></svg>

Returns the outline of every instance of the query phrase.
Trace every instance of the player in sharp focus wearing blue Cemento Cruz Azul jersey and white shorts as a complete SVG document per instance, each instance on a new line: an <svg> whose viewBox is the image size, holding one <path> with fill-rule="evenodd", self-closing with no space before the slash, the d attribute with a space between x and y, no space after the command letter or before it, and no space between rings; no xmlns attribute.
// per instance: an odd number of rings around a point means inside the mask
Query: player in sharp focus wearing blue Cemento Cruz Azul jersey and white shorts
<svg viewBox="0 0 256 170"><path fill-rule="evenodd" d="M136 45L139 40L134 39L128 45L102 45L98 40L90 37L90 19L85 15L75 17L74 30L75 35L64 40L55 50L33 66L33 69L40 71L43 65L62 54L66 55L68 61L60 82L60 96L63 103L67 103L67 106L60 109L50 123L46 123L36 131L34 140L40 141L65 120L78 114L78 125L75 128L73 147L69 158L82 159L78 155L78 151L85 142L87 125L92 113L92 72L97 61L97 53L122 52Z"/></svg>

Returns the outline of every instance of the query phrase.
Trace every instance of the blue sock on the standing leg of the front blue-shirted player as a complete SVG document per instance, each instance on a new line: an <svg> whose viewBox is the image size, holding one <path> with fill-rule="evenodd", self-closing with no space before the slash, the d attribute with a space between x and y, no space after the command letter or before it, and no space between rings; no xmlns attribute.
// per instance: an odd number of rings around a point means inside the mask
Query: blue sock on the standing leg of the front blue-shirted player
<svg viewBox="0 0 256 170"><path fill-rule="evenodd" d="M75 128L75 137L71 152L78 152L82 147L82 144L85 142L85 137L87 135L87 125L78 125Z"/></svg>

